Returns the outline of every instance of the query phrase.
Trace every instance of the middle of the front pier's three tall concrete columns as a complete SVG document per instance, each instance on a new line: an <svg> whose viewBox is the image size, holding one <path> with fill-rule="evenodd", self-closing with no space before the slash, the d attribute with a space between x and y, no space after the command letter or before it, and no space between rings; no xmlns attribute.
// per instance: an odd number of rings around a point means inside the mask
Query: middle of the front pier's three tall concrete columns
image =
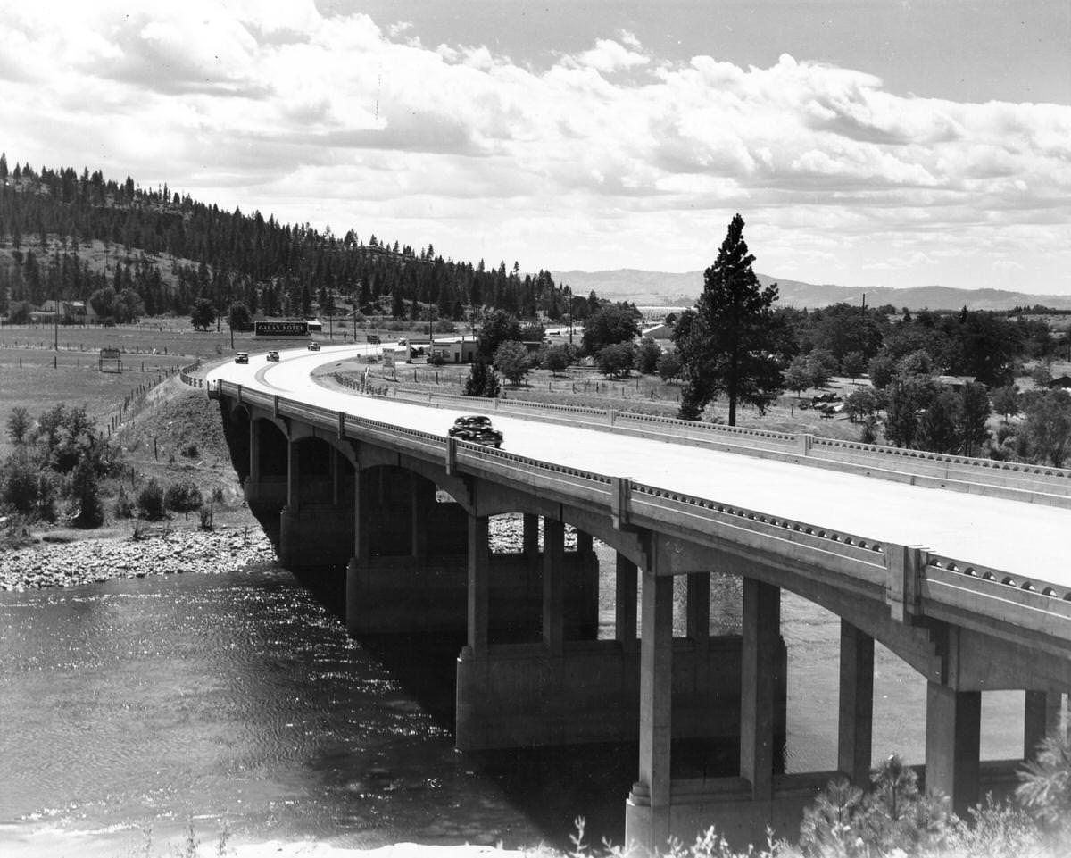
<svg viewBox="0 0 1071 858"><path fill-rule="evenodd" d="M740 777L751 782L754 801L769 801L773 798L781 589L744 578L742 624Z"/></svg>

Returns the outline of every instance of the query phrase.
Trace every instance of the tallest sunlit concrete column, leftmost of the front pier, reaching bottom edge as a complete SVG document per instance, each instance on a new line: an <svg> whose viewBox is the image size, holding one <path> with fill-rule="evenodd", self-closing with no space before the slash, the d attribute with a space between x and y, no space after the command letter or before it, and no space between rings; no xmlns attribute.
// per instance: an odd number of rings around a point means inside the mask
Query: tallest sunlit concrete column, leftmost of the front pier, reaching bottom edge
<svg viewBox="0 0 1071 858"><path fill-rule="evenodd" d="M649 844L669 839L673 577L644 570L639 646L639 783L650 795Z"/></svg>

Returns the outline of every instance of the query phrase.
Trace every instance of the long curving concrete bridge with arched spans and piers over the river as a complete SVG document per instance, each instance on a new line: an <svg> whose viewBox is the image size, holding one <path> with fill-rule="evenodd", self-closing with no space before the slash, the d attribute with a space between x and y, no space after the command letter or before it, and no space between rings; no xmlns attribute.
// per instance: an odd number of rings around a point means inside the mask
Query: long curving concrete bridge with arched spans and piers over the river
<svg viewBox="0 0 1071 858"><path fill-rule="evenodd" d="M838 769L860 784L875 641L925 678L924 779L957 812L1010 771L980 762L983 693L1026 691L1024 756L1057 724L1071 470L311 380L358 351L209 374L250 506L285 565L345 576L352 634L464 631L459 749L638 739L628 842L690 841L711 824L738 841L771 823L793 837L788 821L835 773L780 765L782 590L841 618L830 719ZM473 410L504 431L501 450L447 437ZM524 527L501 553L491 522L506 513ZM597 636L593 539L616 552L613 639ZM710 634L711 573L742 578L740 635ZM738 746L736 774L674 759L690 739Z"/></svg>

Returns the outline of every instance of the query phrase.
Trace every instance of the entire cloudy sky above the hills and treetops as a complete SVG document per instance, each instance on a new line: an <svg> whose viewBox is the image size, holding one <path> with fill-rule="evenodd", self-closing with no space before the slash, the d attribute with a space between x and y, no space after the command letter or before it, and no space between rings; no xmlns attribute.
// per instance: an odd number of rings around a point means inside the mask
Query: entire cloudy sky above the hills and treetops
<svg viewBox="0 0 1071 858"><path fill-rule="evenodd" d="M1071 293L1068 0L33 0L0 150L523 271Z"/></svg>

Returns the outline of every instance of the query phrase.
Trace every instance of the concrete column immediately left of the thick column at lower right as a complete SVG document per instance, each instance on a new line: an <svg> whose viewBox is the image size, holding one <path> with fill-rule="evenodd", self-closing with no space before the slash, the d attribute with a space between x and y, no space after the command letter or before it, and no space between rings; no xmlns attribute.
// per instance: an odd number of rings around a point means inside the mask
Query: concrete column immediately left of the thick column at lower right
<svg viewBox="0 0 1071 858"><path fill-rule="evenodd" d="M862 788L870 783L873 728L874 638L842 619L836 768Z"/></svg>

